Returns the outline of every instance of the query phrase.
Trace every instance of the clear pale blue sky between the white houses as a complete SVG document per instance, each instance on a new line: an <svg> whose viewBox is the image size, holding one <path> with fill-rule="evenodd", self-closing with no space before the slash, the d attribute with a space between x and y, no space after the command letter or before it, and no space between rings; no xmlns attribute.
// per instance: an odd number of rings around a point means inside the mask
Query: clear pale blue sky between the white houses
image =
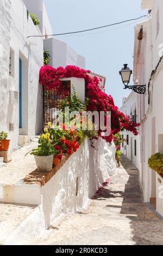
<svg viewBox="0 0 163 256"><path fill-rule="evenodd" d="M79 31L134 19L147 13L141 0L44 0L53 33ZM142 18L143 20L145 18ZM140 20L140 21L141 21ZM139 22L139 21L137 21ZM122 106L124 90L118 71L124 63L133 69L134 26L128 22L77 35L56 36L86 58L86 69L106 76L106 93Z"/></svg>

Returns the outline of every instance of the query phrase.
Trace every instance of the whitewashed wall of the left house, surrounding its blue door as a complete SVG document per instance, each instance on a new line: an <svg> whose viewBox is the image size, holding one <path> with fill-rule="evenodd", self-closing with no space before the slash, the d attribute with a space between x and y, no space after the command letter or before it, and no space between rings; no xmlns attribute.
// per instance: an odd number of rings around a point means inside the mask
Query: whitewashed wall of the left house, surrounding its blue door
<svg viewBox="0 0 163 256"><path fill-rule="evenodd" d="M25 4L26 5L25 5ZM2 0L0 3L0 131L9 132L10 149L23 144L42 130L42 91L39 86L39 70L43 65L42 28L34 26L30 13L40 17L43 28L52 33L51 24L42 0ZM42 15L42 16L39 16ZM9 57L11 51L11 75ZM10 102L10 91L19 93L19 58L22 59L22 129L19 129L19 105ZM9 123L14 131L9 131Z"/></svg>

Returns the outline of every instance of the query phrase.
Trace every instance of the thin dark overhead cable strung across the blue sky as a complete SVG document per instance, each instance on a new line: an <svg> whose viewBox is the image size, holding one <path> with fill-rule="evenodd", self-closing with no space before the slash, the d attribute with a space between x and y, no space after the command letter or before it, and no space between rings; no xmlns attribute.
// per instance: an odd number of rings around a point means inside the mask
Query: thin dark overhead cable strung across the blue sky
<svg viewBox="0 0 163 256"><path fill-rule="evenodd" d="M67 33L60 33L60 34L53 34L53 35L29 35L27 38L32 38L32 37L45 37L45 36L57 36L57 35L68 35L68 34L83 33L83 32L87 32L87 31L93 31L93 30L95 30L95 29L100 29L100 28L106 28L106 27L111 27L111 26L119 25L119 24L122 24L122 23L125 23L125 22L129 22L129 21L140 20L142 17L147 17L147 15L143 15L143 16L141 16L141 17L139 17L139 18L136 18L136 19L131 19L131 20L126 20L126 21L121 21L121 22L112 23L112 24L109 24L109 25L101 26L101 27L85 29L85 30L82 30L82 31L67 32Z"/></svg>

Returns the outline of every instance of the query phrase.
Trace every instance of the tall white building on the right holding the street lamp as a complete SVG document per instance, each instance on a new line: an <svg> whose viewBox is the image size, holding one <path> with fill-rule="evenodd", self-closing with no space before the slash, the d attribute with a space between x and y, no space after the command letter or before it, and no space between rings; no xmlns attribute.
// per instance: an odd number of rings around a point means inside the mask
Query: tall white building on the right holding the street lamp
<svg viewBox="0 0 163 256"><path fill-rule="evenodd" d="M137 145L141 152L140 184L143 200L151 202L163 216L163 198L160 193L163 179L148 167L151 155L163 153L163 2L142 0L142 9L147 9L150 16L135 27L134 84L146 84L145 95L134 93L138 121L141 122L140 144ZM124 105L131 105L130 97ZM133 104L135 99L132 100Z"/></svg>

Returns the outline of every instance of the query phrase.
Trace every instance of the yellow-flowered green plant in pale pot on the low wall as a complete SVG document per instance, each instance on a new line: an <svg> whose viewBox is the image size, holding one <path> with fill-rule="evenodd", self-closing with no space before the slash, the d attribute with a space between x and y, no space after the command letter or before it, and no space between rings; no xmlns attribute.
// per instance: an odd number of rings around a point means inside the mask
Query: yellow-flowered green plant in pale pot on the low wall
<svg viewBox="0 0 163 256"><path fill-rule="evenodd" d="M34 155L39 172L52 170L53 158L57 155L57 149L54 148L48 132L40 136L38 148L33 149L30 155Z"/></svg>

